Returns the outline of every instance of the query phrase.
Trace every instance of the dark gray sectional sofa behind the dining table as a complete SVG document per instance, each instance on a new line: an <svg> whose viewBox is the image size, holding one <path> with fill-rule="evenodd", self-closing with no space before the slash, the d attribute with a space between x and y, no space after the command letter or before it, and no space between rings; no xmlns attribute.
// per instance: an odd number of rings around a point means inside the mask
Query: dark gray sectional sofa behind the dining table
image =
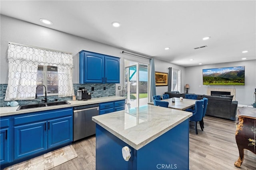
<svg viewBox="0 0 256 170"><path fill-rule="evenodd" d="M170 98L185 98L186 93L165 92L169 94ZM204 94L196 94L197 100L208 98L208 106L206 109L206 115L212 117L218 117L222 119L228 119L234 121L236 119L236 110L238 106L237 101L232 101L233 96L208 96Z"/></svg>

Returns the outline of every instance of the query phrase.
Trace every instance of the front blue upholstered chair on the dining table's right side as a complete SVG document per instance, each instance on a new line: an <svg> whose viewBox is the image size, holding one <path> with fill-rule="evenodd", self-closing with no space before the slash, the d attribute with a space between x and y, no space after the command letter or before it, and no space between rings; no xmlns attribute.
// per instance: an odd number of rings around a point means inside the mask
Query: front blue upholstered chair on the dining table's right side
<svg viewBox="0 0 256 170"><path fill-rule="evenodd" d="M202 120L203 110L204 110L204 100L196 101L194 112L192 112L193 115L189 118L190 121L195 122L196 135L198 134L198 132L197 132L197 122Z"/></svg>

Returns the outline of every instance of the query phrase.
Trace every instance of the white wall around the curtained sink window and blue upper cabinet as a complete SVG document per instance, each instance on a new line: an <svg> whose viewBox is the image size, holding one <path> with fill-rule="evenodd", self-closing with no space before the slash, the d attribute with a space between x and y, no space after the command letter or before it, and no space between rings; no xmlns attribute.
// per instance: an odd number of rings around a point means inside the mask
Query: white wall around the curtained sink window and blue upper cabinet
<svg viewBox="0 0 256 170"><path fill-rule="evenodd" d="M118 86L124 84L124 58L136 61L148 62L148 59L124 54L124 49L84 39L64 32L56 31L35 25L25 21L17 20L7 16L0 16L1 19L1 52L0 52L0 84L8 83L8 42L32 45L59 51L73 53L74 69L73 83L79 83L79 51L86 50L120 57L120 84L116 84L116 94L119 95ZM79 25L74 25L78 27ZM129 52L129 51L126 51ZM131 52L129 52L131 53ZM136 53L133 53L136 54ZM137 54L140 55L140 54ZM140 55L143 56L143 55ZM146 57L146 56L143 56Z"/></svg>

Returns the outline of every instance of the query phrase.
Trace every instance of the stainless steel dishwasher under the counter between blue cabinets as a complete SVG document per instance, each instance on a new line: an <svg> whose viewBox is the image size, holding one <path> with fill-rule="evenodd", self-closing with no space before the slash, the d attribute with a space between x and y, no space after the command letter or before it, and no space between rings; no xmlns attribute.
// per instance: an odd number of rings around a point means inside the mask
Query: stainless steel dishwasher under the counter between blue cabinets
<svg viewBox="0 0 256 170"><path fill-rule="evenodd" d="M95 134L96 123L92 121L92 116L96 115L99 115L99 104L90 104L74 107L74 141Z"/></svg>

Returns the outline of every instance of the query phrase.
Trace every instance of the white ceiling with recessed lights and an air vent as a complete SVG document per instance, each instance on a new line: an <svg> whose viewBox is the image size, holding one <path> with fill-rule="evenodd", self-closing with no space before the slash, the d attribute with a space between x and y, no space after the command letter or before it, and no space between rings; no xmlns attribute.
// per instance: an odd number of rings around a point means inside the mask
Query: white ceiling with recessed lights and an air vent
<svg viewBox="0 0 256 170"><path fill-rule="evenodd" d="M256 59L255 0L1 0L0 6L6 16L181 66Z"/></svg>

